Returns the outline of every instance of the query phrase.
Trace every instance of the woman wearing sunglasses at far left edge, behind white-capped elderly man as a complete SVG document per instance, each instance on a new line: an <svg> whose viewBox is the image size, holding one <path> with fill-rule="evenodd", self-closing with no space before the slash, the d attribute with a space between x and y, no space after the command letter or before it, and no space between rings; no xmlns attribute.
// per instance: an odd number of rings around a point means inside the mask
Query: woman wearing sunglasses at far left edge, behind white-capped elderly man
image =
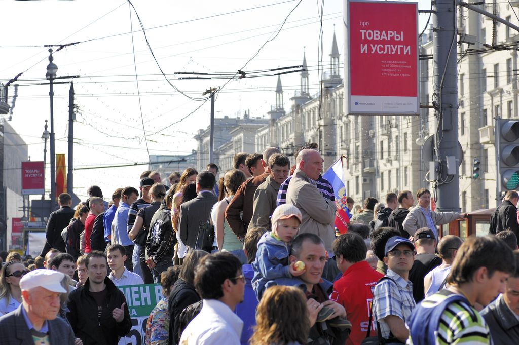
<svg viewBox="0 0 519 345"><path fill-rule="evenodd" d="M16 310L22 302L20 279L29 270L20 261L9 261L0 273L0 316Z"/></svg>

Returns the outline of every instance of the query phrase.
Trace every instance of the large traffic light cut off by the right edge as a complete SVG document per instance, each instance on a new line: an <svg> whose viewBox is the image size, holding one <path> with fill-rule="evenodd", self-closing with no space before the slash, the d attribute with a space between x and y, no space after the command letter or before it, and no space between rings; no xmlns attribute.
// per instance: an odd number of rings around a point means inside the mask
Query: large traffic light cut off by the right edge
<svg viewBox="0 0 519 345"><path fill-rule="evenodd" d="M500 119L500 173L505 191L519 187L519 120Z"/></svg>

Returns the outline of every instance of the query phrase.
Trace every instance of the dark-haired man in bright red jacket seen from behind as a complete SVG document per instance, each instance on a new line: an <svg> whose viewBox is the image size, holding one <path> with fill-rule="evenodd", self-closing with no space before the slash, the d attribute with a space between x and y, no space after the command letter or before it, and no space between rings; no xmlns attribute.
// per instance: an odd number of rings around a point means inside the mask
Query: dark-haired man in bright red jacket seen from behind
<svg viewBox="0 0 519 345"><path fill-rule="evenodd" d="M384 275L375 271L365 261L366 243L357 233L345 233L339 236L333 242L333 252L337 267L343 275L333 284L330 299L346 309L346 315L352 324L346 345L360 345L370 327L373 290ZM372 325L371 335L376 335L377 328L373 321Z"/></svg>

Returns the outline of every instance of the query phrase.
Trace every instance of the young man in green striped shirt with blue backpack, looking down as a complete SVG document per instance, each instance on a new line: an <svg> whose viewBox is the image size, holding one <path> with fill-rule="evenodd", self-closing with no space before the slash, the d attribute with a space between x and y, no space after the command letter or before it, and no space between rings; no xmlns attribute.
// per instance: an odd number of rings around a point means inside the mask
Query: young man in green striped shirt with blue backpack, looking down
<svg viewBox="0 0 519 345"><path fill-rule="evenodd" d="M474 306L486 306L503 293L514 271L515 259L506 243L494 236L469 237L454 259L447 277L448 288L421 301L415 310L417 317L407 323L411 333L407 343L490 344L488 326ZM453 294L460 298L445 306L442 301ZM432 308L444 308L439 321L418 317L431 311L433 315ZM427 328L434 331L434 336Z"/></svg>

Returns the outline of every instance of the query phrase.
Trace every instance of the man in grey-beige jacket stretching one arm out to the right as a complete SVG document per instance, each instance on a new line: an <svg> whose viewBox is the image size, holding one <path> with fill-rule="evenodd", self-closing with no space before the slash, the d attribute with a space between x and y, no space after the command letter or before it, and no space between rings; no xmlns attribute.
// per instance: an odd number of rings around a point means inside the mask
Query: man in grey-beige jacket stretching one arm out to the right
<svg viewBox="0 0 519 345"><path fill-rule="evenodd" d="M461 219L467 216L467 213L460 214L456 212L435 212L429 210L431 192L426 188L418 189L416 199L418 200L418 205L407 213L403 223L404 230L411 236L414 236L416 230L420 228L429 228L434 232L436 241L438 241L437 225L447 224L455 219Z"/></svg>

